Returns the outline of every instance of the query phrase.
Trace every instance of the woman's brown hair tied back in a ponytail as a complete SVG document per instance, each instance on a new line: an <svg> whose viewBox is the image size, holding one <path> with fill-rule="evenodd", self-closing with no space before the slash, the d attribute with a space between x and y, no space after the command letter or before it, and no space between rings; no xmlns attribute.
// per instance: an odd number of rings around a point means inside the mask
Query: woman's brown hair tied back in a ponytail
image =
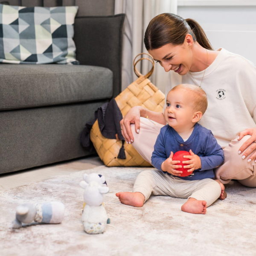
<svg viewBox="0 0 256 256"><path fill-rule="evenodd" d="M183 44L187 34L192 35L193 40L202 47L213 50L204 29L195 20L184 20L172 13L162 13L149 22L144 44L147 50L157 49L170 43Z"/></svg>

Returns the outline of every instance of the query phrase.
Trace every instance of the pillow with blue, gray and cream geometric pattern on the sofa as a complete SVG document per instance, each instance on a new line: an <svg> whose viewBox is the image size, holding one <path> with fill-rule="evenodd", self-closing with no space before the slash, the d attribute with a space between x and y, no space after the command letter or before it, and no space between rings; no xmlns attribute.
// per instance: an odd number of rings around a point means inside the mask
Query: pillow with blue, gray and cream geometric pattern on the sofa
<svg viewBox="0 0 256 256"><path fill-rule="evenodd" d="M73 41L77 10L0 4L0 62L79 64Z"/></svg>

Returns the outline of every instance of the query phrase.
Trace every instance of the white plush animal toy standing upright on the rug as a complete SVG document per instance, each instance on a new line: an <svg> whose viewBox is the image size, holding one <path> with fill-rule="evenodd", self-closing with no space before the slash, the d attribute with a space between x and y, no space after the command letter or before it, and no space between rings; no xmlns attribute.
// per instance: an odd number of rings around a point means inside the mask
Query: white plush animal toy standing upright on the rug
<svg viewBox="0 0 256 256"><path fill-rule="evenodd" d="M108 186L102 185L103 179L100 183L96 181L99 180L99 176L96 177L96 175L90 175L91 177L94 176L92 180L90 180L88 177L89 175L87 175L84 180L80 182L80 186L84 188L85 202L85 207L82 213L82 222L86 233L99 234L105 231L108 222L107 212L102 203L103 194L108 193L109 188ZM87 183L86 180L90 180L90 182Z"/></svg>

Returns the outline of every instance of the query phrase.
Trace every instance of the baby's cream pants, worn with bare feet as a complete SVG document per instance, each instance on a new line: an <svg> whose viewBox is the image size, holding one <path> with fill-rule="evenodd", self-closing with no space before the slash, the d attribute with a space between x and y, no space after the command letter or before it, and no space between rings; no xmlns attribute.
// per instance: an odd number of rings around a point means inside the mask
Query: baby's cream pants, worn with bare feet
<svg viewBox="0 0 256 256"><path fill-rule="evenodd" d="M205 200L207 207L221 195L221 186L212 179L182 180L158 170L140 172L134 183L133 192L140 192L148 200L153 195L169 195L177 198Z"/></svg>

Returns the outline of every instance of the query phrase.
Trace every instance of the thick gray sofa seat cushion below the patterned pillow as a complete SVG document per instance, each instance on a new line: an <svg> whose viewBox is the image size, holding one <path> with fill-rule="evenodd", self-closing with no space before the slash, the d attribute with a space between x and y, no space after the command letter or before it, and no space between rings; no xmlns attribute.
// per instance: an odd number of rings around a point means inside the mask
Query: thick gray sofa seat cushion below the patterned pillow
<svg viewBox="0 0 256 256"><path fill-rule="evenodd" d="M113 73L87 65L0 64L0 110L110 99Z"/></svg>

